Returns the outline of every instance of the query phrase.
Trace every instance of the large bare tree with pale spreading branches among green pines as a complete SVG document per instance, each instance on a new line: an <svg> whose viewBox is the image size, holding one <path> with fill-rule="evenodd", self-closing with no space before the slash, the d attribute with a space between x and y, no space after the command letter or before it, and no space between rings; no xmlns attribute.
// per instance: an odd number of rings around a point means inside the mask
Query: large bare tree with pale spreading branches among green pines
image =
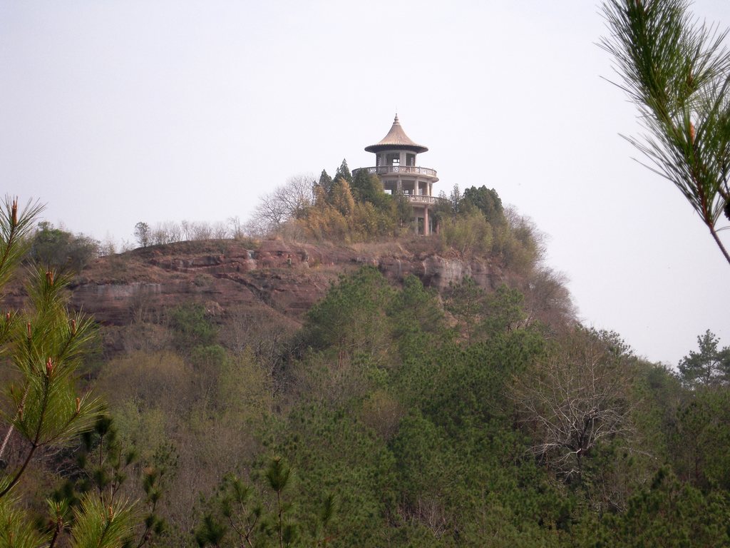
<svg viewBox="0 0 730 548"><path fill-rule="evenodd" d="M578 328L516 376L512 397L534 454L566 479L580 479L598 444L630 438L634 361L614 333Z"/></svg>

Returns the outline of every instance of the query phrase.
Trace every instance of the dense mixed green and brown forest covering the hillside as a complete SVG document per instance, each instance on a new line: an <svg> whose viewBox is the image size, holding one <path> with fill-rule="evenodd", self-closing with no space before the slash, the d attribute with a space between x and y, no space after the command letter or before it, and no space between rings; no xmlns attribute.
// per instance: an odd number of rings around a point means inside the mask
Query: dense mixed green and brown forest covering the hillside
<svg viewBox="0 0 730 548"><path fill-rule="evenodd" d="M413 240L398 197L345 169L269 233ZM126 254L94 259L7 202L0 281L26 278L28 300L0 330L1 545L729 544L730 349L708 331L677 370L645 362L575 321L495 191L439 207L434 253L488 258L510 285L439 294L366 266L301 324L179 302L110 351L66 288ZM380 221L352 221L366 212Z"/></svg>

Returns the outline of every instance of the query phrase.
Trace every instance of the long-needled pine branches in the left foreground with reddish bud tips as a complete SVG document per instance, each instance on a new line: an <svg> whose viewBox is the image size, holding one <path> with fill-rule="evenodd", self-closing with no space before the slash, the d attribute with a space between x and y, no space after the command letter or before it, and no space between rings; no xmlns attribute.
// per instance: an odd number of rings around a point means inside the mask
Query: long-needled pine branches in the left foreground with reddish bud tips
<svg viewBox="0 0 730 548"><path fill-rule="evenodd" d="M5 199L0 211L0 291L26 253L28 233L41 210L29 202L19 212L17 199ZM48 543L54 547L61 542L68 507L50 503L53 525L36 530L16 502L18 484L34 457L91 430L101 412L99 400L78 395L76 390L77 366L93 337L93 324L67 310L64 290L68 281L52 270L37 270L28 279L26 309L9 312L0 321L0 354L14 377L3 408L7 430L0 457L11 436L20 442L18 457L8 458L0 471L0 539L4 546L36 548ZM121 547L131 534L132 518L132 508L124 502L85 495L74 509L71 544Z"/></svg>

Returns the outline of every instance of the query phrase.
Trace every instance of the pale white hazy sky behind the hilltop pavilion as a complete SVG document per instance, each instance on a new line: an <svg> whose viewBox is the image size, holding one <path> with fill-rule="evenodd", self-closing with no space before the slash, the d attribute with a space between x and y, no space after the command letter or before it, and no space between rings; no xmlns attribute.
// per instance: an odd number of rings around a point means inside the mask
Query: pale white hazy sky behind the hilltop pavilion
<svg viewBox="0 0 730 548"><path fill-rule="evenodd" d="M730 26L727 0L694 12ZM585 324L676 365L708 328L730 343L730 266L631 160L602 34L585 0L0 0L0 194L99 240L245 219L293 175L372 165L397 108L439 190L496 189Z"/></svg>

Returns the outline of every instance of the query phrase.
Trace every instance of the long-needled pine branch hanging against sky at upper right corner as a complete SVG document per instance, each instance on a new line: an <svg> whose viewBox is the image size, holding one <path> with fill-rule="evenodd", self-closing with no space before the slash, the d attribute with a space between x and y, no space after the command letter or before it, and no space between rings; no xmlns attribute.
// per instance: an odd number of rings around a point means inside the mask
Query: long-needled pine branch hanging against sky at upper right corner
<svg viewBox="0 0 730 548"><path fill-rule="evenodd" d="M730 51L727 31L694 23L689 0L607 0L610 35L601 45L622 77L618 84L639 108L648 133L628 137L672 181L718 236L730 217Z"/></svg>

